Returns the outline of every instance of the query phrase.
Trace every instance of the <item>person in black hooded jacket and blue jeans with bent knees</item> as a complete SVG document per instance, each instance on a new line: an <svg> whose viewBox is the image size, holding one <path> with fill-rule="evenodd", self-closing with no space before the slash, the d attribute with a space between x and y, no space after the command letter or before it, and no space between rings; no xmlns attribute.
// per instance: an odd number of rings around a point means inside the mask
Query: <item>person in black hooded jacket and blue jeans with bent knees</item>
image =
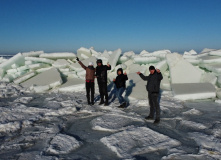
<svg viewBox="0 0 221 160"><path fill-rule="evenodd" d="M114 79L114 83L116 85L116 96L120 102L120 106L119 108L125 108L126 107L126 102L122 96L122 94L124 93L125 91L125 88L126 88L126 80L128 80L128 77L127 77L127 73L123 73L123 69L122 68L119 68L117 70L117 77L116 79Z"/></svg>

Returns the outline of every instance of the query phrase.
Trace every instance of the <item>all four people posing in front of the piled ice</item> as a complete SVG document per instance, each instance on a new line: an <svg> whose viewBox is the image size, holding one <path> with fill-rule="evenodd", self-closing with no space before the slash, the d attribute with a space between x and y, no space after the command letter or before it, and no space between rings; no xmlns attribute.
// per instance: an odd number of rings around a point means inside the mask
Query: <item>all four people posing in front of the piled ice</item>
<svg viewBox="0 0 221 160"><path fill-rule="evenodd" d="M97 83L100 92L101 101L99 105L108 105L108 92L107 92L107 71L111 70L111 65L103 65L102 60L97 60L97 67L94 67L93 62L89 62L88 66L85 66L79 58L76 58L78 63L82 68L86 70L85 83L86 83L86 96L89 105L94 105L94 81L97 78ZM144 76L141 72L137 74L144 80L147 81L146 89L148 92L148 99L150 105L150 113L145 119L154 119L154 114L156 112L154 123L160 122L160 106L159 106L159 93L160 93L160 82L163 76L159 69L155 69L154 66L149 67L150 74ZM122 94L126 89L126 81L128 80L127 73L123 72L122 68L117 70L117 77L113 79L116 85L116 96L120 103L120 108L125 108L127 103L123 98ZM104 100L105 98L105 100Z"/></svg>

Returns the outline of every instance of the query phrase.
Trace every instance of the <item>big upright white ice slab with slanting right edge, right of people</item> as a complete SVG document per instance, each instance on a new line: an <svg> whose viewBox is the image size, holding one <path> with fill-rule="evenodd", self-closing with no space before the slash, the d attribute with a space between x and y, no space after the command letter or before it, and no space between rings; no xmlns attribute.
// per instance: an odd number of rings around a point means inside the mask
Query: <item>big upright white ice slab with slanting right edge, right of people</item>
<svg viewBox="0 0 221 160"><path fill-rule="evenodd" d="M202 72L199 68L186 61L178 53L166 55L170 69L171 83L199 83Z"/></svg>

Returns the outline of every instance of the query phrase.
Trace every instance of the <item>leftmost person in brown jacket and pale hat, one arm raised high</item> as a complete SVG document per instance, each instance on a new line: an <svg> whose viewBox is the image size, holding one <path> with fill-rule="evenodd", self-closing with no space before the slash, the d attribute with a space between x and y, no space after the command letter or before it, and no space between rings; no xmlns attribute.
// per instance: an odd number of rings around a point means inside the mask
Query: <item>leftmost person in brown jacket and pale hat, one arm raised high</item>
<svg viewBox="0 0 221 160"><path fill-rule="evenodd" d="M87 102L89 105L94 105L94 78L96 69L93 66L93 62L89 62L88 67L86 67L77 57L76 60L81 65L82 68L86 70L85 76L85 86L87 94Z"/></svg>

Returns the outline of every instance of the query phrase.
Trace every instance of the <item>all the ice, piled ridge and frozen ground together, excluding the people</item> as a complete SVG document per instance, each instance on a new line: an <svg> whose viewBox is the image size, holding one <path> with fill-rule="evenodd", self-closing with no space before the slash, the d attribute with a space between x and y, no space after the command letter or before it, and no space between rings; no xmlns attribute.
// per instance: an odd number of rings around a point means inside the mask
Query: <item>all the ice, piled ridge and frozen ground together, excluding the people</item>
<svg viewBox="0 0 221 160"><path fill-rule="evenodd" d="M85 71L102 59L108 73L109 106L87 105ZM160 50L77 54L18 53L0 58L0 159L221 159L221 50L183 55ZM146 121L146 82L154 65L163 74L161 122ZM128 106L117 108L113 78L128 74Z"/></svg>

